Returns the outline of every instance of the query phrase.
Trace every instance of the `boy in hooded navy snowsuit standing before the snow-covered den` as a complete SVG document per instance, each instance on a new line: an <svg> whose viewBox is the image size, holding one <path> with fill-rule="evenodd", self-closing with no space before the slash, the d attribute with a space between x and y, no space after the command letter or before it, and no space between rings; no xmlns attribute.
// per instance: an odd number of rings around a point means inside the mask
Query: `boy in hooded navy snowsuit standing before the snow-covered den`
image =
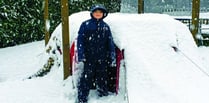
<svg viewBox="0 0 209 103"><path fill-rule="evenodd" d="M107 69L116 66L110 27L103 21L108 11L97 4L91 7L90 15L91 19L81 24L77 39L78 61L84 64L78 83L79 103L87 103L92 85L96 86L99 97L107 96Z"/></svg>

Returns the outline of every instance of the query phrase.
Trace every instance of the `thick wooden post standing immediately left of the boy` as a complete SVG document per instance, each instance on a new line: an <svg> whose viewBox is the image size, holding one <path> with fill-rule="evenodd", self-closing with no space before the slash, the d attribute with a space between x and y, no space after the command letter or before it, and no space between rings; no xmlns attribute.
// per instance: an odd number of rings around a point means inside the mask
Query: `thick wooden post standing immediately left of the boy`
<svg viewBox="0 0 209 103"><path fill-rule="evenodd" d="M61 0L61 16L62 16L62 44L63 44L63 73L64 79L72 75L70 68L70 34L69 34L69 21L68 21L68 0Z"/></svg>

